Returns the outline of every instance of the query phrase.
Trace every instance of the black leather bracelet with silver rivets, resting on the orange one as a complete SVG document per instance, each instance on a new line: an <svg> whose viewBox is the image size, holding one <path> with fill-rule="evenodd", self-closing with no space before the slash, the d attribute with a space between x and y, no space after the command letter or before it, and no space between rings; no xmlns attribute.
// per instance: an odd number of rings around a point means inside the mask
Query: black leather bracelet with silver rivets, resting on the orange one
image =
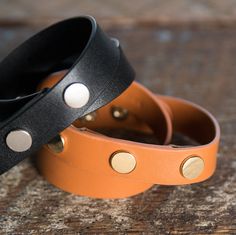
<svg viewBox="0 0 236 235"><path fill-rule="evenodd" d="M69 71L59 83L36 92L43 78L62 69ZM92 17L59 22L24 42L0 63L0 173L109 103L133 79L117 41Z"/></svg>

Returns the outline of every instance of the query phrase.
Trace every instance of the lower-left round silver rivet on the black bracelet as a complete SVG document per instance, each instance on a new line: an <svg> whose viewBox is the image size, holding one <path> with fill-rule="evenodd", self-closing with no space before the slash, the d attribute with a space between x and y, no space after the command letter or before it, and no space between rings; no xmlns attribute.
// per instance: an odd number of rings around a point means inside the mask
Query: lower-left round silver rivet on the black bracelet
<svg viewBox="0 0 236 235"><path fill-rule="evenodd" d="M25 152L32 145L32 137L25 130L11 131L7 135L6 144L14 152Z"/></svg>

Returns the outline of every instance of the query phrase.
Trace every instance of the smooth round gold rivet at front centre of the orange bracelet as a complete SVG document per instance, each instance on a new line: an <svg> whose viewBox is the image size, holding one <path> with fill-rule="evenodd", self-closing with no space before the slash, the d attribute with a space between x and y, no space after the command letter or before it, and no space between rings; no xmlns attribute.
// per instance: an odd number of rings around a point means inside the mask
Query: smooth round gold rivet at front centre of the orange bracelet
<svg viewBox="0 0 236 235"><path fill-rule="evenodd" d="M115 171L127 174L134 170L136 159L128 152L115 152L111 155L110 164Z"/></svg>

